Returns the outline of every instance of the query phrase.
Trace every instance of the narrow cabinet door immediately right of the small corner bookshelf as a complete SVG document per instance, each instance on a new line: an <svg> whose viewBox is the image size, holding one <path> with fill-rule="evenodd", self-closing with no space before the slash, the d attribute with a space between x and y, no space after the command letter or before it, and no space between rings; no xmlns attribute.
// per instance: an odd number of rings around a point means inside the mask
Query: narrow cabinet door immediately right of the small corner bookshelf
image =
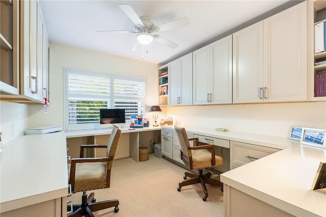
<svg viewBox="0 0 326 217"><path fill-rule="evenodd" d="M169 63L168 65L169 70L169 106L175 106L178 105L178 97L179 97L179 73L180 73L180 67L179 67L179 60L176 59Z"/></svg>

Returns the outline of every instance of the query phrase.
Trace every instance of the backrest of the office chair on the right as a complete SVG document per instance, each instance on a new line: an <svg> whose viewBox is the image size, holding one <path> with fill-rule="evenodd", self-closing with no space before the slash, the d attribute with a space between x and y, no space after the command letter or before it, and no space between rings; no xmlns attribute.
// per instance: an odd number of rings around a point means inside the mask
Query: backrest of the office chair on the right
<svg viewBox="0 0 326 217"><path fill-rule="evenodd" d="M186 166L192 168L192 164L193 164L192 151L190 149L190 143L189 143L187 133L185 132L184 128L179 128L176 125L174 126L174 130L180 142L182 161L185 163Z"/></svg>

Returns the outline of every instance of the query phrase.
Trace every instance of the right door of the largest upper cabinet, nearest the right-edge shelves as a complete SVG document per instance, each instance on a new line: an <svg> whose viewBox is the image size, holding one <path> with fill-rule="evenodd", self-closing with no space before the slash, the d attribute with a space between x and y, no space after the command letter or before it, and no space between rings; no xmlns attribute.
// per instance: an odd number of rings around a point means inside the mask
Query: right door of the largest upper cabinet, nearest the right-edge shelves
<svg viewBox="0 0 326 217"><path fill-rule="evenodd" d="M264 20L265 101L307 100L307 2Z"/></svg>

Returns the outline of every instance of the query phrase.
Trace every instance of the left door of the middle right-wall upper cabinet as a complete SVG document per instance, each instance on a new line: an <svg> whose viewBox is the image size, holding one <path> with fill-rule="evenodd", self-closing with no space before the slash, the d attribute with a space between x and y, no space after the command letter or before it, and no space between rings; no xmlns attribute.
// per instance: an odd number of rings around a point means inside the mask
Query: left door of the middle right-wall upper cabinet
<svg viewBox="0 0 326 217"><path fill-rule="evenodd" d="M193 52L193 104L209 103L209 45Z"/></svg>

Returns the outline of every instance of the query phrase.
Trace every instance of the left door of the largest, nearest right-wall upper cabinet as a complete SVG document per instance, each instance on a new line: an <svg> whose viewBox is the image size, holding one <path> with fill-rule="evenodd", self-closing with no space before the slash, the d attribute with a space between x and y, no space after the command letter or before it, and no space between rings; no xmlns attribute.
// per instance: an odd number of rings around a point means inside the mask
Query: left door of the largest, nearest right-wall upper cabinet
<svg viewBox="0 0 326 217"><path fill-rule="evenodd" d="M233 34L233 103L262 102L263 21Z"/></svg>

